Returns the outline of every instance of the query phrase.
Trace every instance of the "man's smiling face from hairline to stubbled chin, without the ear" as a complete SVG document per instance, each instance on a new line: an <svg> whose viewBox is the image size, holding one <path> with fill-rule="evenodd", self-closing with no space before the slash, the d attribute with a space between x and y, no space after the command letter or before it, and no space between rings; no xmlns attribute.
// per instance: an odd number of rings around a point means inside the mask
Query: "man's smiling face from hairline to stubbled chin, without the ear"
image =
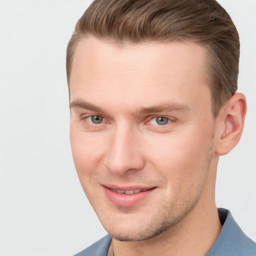
<svg viewBox="0 0 256 256"><path fill-rule="evenodd" d="M213 200L217 157L204 69L205 50L192 42L78 43L72 153L113 238L150 238Z"/></svg>

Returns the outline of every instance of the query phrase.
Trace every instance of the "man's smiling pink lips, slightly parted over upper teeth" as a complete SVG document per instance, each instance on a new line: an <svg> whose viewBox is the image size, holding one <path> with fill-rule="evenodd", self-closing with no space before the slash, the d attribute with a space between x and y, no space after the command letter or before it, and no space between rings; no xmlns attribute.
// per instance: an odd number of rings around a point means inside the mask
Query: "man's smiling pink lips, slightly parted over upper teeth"
<svg viewBox="0 0 256 256"><path fill-rule="evenodd" d="M123 188L103 185L108 200L118 206L131 207L147 200L156 187Z"/></svg>

